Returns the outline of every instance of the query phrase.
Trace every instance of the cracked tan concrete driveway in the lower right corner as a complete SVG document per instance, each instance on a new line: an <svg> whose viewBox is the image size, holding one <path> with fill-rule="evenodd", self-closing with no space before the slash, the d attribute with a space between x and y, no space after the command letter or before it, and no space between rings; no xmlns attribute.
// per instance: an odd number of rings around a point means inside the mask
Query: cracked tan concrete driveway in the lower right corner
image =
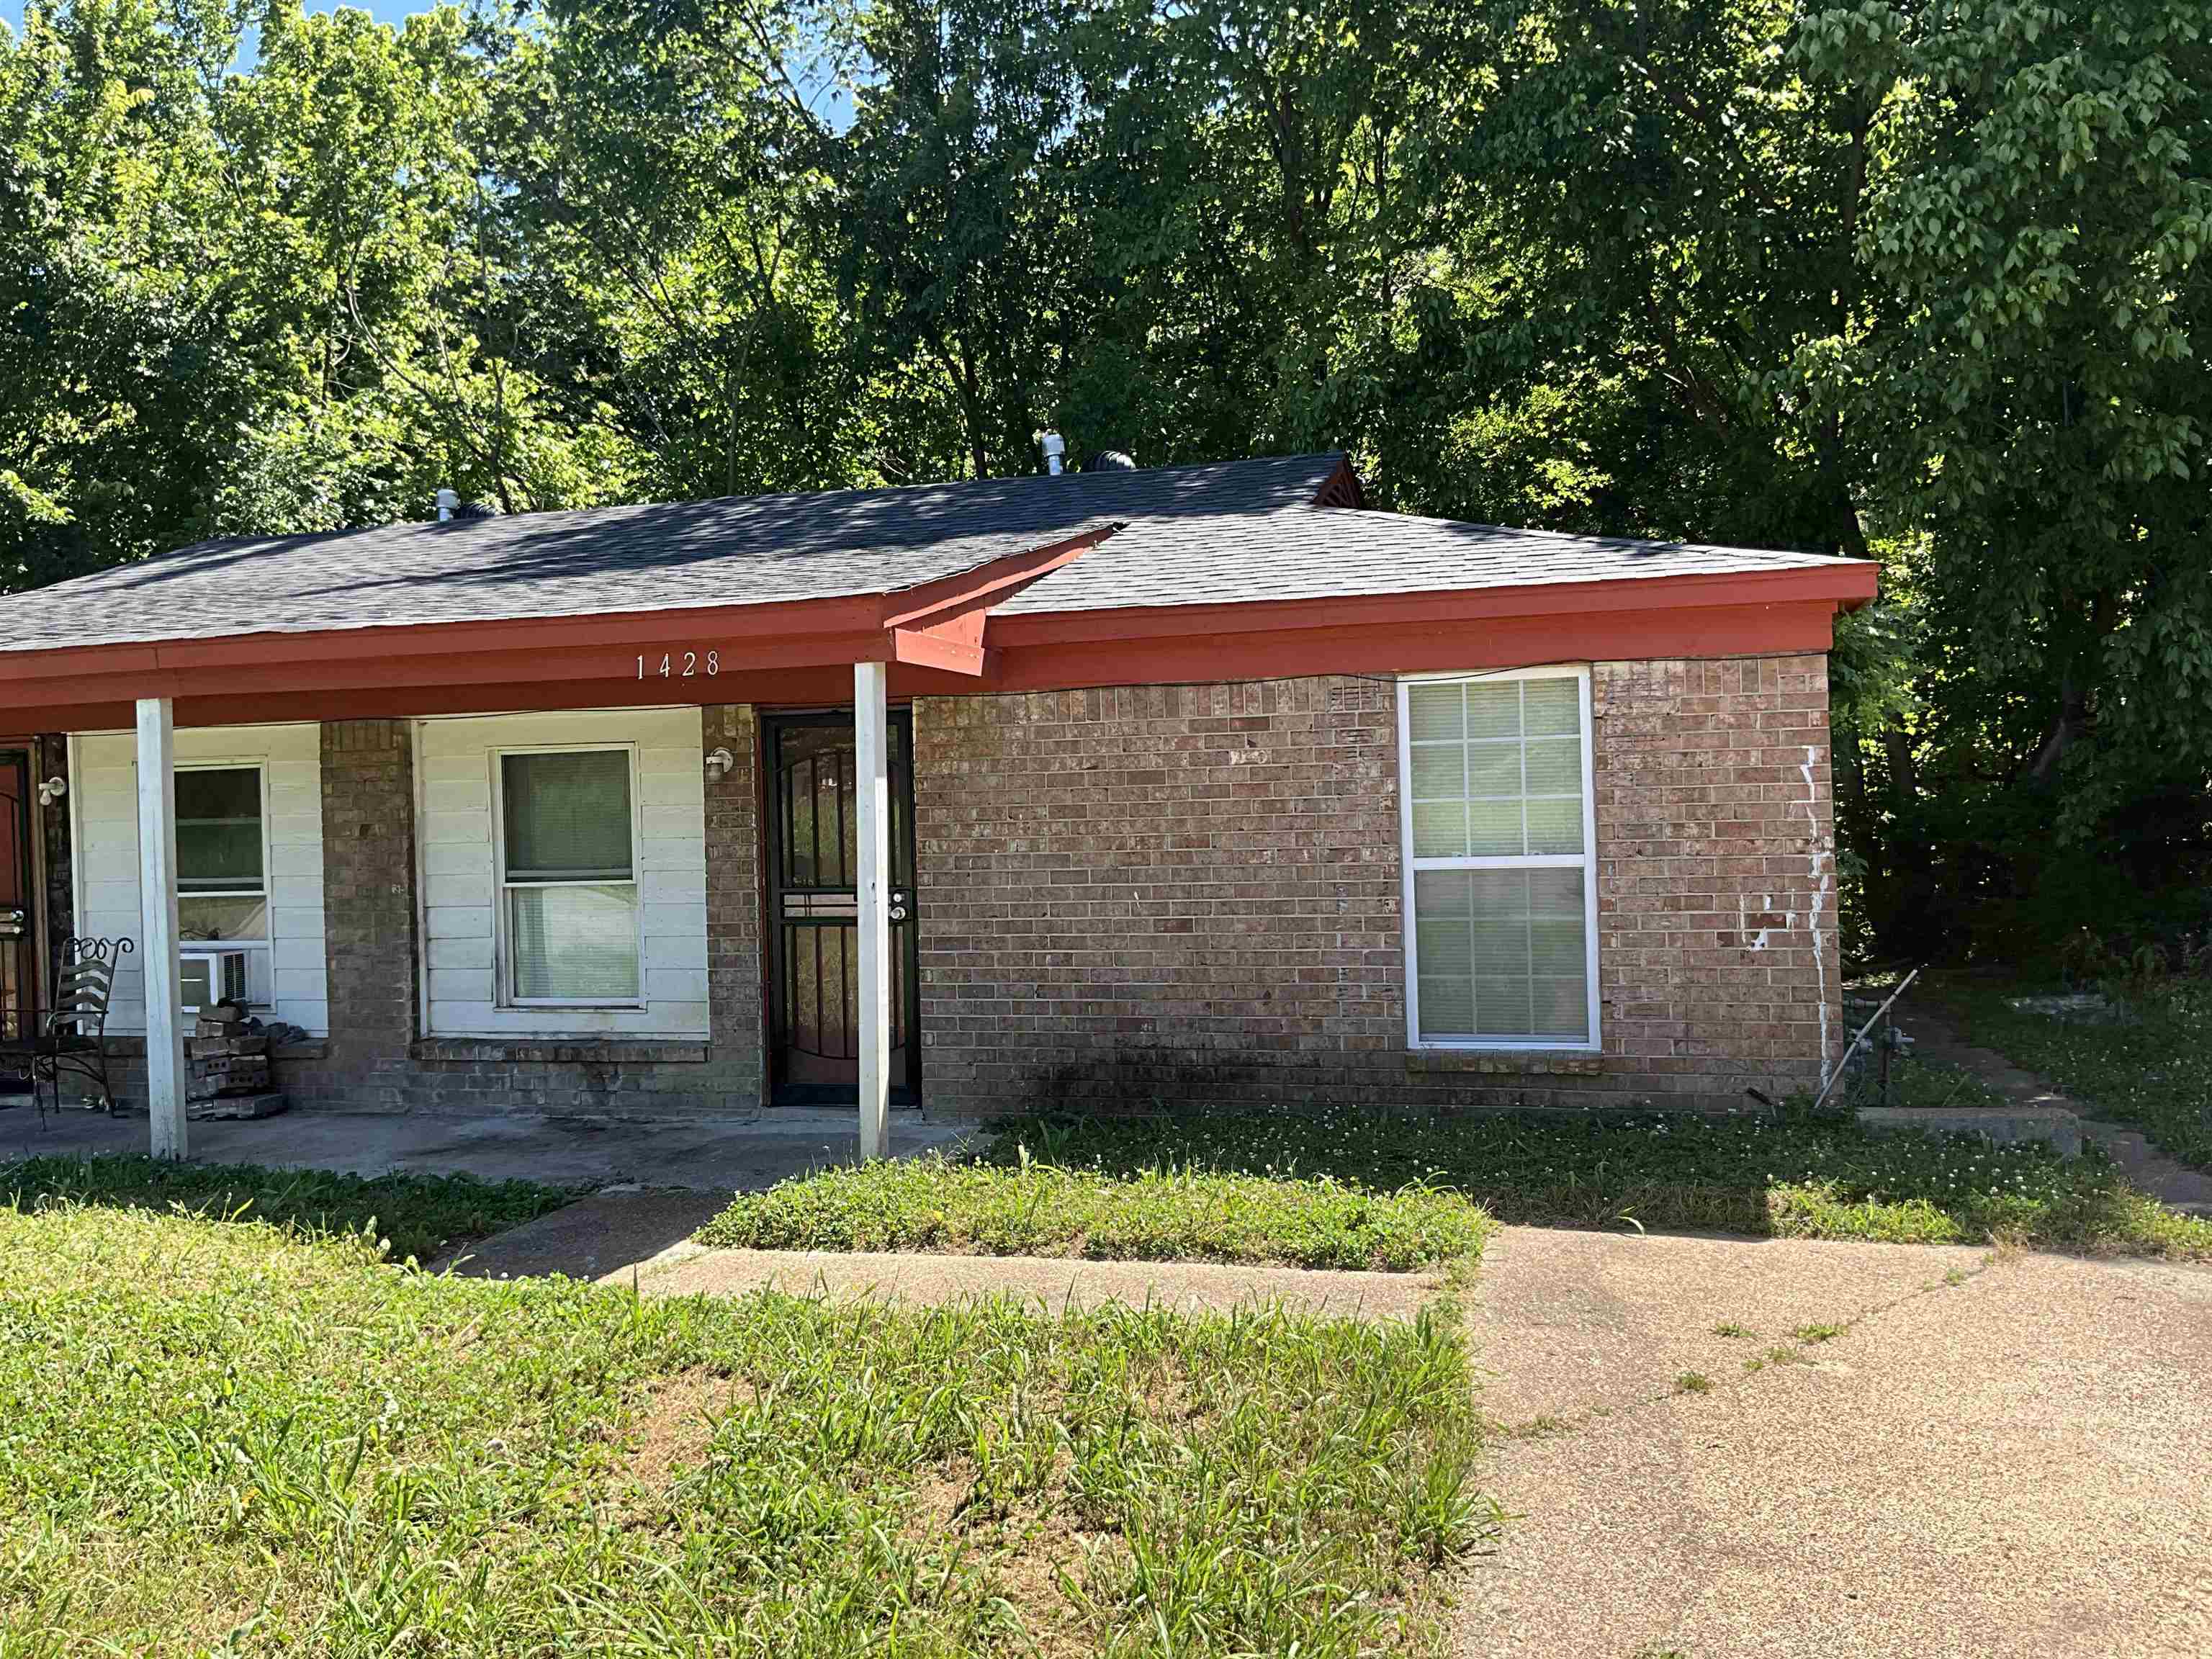
<svg viewBox="0 0 2212 1659"><path fill-rule="evenodd" d="M2212 1652L2208 1267L1509 1228L1471 1323L1469 1659Z"/></svg>

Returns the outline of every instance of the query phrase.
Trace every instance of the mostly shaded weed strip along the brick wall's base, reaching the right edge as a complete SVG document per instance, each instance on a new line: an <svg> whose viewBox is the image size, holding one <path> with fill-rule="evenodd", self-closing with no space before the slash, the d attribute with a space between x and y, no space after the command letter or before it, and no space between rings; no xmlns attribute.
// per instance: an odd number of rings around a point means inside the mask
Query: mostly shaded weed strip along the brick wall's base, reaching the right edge
<svg viewBox="0 0 2212 1659"><path fill-rule="evenodd" d="M984 1150L1068 1179L1161 1170L1464 1197L1498 1221L1712 1228L1798 1239L1982 1243L2212 1256L2212 1221L2143 1197L2095 1152L1849 1119L1223 1110L1011 1124Z"/></svg>

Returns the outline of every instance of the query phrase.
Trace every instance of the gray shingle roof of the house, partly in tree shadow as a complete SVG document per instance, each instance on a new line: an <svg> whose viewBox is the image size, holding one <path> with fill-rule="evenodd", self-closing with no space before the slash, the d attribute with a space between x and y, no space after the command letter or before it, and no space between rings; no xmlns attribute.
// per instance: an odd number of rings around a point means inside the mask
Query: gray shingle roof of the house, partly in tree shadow
<svg viewBox="0 0 2212 1659"><path fill-rule="evenodd" d="M0 650L889 593L1121 526L1006 613L1827 564L1314 507L1340 456L241 538L0 599Z"/></svg>

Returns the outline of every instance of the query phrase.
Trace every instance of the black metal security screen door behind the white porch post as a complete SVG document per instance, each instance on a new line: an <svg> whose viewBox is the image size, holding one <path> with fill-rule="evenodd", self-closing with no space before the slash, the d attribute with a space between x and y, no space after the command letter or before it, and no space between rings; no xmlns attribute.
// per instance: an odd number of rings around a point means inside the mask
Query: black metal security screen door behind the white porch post
<svg viewBox="0 0 2212 1659"><path fill-rule="evenodd" d="M772 714L768 737L770 1066L783 1106L860 1099L852 714ZM920 1102L914 980L914 717L891 710L891 1099Z"/></svg>

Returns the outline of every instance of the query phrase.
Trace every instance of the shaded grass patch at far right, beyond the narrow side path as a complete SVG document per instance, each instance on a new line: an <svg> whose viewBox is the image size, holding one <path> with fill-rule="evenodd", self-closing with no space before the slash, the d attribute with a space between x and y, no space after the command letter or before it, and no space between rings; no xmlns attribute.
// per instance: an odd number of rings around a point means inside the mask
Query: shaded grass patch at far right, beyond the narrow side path
<svg viewBox="0 0 2212 1659"><path fill-rule="evenodd" d="M2057 987L1953 980L1942 1002L1964 1035L2048 1077L2099 1117L2135 1124L2183 1164L2212 1170L2212 984L2179 982L2126 1020L2055 1020L2011 998Z"/></svg>

